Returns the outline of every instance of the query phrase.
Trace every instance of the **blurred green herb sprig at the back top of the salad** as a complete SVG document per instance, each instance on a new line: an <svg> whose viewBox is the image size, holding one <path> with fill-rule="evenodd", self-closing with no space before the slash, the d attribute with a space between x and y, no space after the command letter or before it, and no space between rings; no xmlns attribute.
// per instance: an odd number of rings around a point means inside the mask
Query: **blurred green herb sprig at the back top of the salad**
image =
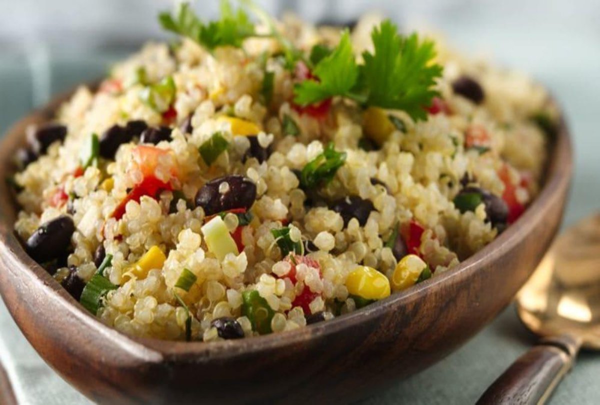
<svg viewBox="0 0 600 405"><path fill-rule="evenodd" d="M198 19L188 3L182 3L175 16L160 13L158 20L164 29L188 37L209 50L220 46L239 48L246 38L255 35L254 24L245 10L233 10L227 0L221 1L221 18L208 24Z"/></svg>

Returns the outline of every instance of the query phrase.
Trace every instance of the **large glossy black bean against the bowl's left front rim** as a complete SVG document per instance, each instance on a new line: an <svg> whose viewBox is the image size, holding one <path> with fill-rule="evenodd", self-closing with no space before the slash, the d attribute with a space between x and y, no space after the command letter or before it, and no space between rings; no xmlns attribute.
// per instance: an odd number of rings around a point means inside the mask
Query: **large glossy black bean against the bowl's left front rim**
<svg viewBox="0 0 600 405"><path fill-rule="evenodd" d="M75 224L71 217L61 215L35 230L27 239L27 253L38 263L57 259L71 244L73 232L75 232Z"/></svg>

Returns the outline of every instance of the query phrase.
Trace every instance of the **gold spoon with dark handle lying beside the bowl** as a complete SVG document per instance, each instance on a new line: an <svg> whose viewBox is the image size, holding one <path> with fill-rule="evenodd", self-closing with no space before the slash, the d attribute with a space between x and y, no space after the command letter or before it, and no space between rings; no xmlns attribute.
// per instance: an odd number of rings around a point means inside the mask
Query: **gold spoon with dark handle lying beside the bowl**
<svg viewBox="0 0 600 405"><path fill-rule="evenodd" d="M559 236L518 293L517 313L542 339L478 404L543 404L581 347L600 350L600 214Z"/></svg>

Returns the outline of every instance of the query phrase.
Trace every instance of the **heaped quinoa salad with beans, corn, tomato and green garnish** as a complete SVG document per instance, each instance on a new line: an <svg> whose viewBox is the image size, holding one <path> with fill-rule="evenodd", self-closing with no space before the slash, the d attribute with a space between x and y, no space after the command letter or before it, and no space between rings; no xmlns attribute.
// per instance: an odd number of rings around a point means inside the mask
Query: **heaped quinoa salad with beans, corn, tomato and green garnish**
<svg viewBox="0 0 600 405"><path fill-rule="evenodd" d="M538 193L558 112L522 74L373 16L158 20L173 41L28 128L10 179L28 254L119 331L328 322L457 266Z"/></svg>

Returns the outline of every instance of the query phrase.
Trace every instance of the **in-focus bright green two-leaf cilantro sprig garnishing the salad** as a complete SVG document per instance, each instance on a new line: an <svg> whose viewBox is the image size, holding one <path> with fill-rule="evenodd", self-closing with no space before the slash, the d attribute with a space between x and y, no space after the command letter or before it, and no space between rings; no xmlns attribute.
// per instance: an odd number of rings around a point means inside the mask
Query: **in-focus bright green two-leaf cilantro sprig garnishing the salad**
<svg viewBox="0 0 600 405"><path fill-rule="evenodd" d="M341 96L364 106L404 110L415 120L427 119L424 107L438 94L434 85L442 76L442 67L434 63L434 43L420 41L416 34L403 37L389 20L373 29L371 39L374 51L364 52L364 63L358 65L344 32L338 46L314 67L319 80L295 86L295 103Z"/></svg>

